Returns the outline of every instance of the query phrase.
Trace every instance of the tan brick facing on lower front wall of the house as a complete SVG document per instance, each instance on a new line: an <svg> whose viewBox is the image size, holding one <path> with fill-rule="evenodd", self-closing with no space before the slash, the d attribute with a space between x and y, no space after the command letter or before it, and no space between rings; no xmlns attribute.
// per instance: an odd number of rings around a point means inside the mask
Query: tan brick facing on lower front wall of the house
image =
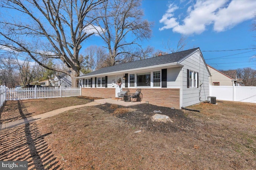
<svg viewBox="0 0 256 170"><path fill-rule="evenodd" d="M136 92L136 88L130 88L130 93ZM156 106L174 107L180 109L179 88L141 88L142 101ZM115 88L82 88L82 96L98 98L115 98Z"/></svg>

